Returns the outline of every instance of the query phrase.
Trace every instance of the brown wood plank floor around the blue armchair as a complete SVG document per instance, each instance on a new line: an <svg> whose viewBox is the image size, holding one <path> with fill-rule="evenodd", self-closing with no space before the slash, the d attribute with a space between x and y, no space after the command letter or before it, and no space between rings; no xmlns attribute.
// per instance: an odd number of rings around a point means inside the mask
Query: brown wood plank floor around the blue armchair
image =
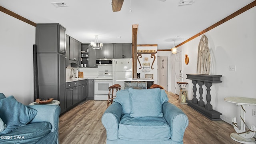
<svg viewBox="0 0 256 144"><path fill-rule="evenodd" d="M188 116L184 144L240 144L229 136L234 132L232 125L211 121L189 106L179 104L177 95L167 94L169 102ZM101 123L106 103L105 100L88 100L60 116L60 144L106 144L106 130Z"/></svg>

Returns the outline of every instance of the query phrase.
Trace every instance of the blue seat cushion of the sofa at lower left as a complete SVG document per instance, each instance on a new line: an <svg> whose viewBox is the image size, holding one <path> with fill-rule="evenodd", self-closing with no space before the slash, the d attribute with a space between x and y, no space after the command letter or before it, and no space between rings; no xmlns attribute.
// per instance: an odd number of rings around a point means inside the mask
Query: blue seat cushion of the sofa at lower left
<svg viewBox="0 0 256 144"><path fill-rule="evenodd" d="M50 122L35 122L15 129L9 134L3 135L0 140L4 144L34 144L49 134L51 131ZM9 139L6 139L9 138Z"/></svg>

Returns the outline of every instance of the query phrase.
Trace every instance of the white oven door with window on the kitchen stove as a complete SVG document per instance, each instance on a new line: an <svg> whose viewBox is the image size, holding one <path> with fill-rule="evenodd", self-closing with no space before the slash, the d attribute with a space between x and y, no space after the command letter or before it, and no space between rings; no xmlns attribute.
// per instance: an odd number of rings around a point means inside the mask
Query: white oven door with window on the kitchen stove
<svg viewBox="0 0 256 144"><path fill-rule="evenodd" d="M95 79L94 94L108 95L108 87L113 85L113 80Z"/></svg>

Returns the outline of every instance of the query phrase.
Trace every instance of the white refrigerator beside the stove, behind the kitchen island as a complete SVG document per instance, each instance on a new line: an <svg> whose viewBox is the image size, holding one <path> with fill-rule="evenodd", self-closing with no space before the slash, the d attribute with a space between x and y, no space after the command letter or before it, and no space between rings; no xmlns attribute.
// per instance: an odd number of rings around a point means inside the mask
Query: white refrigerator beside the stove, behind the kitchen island
<svg viewBox="0 0 256 144"><path fill-rule="evenodd" d="M132 58L113 58L112 60L113 84L120 84L124 89L124 82L116 80L132 78Z"/></svg>

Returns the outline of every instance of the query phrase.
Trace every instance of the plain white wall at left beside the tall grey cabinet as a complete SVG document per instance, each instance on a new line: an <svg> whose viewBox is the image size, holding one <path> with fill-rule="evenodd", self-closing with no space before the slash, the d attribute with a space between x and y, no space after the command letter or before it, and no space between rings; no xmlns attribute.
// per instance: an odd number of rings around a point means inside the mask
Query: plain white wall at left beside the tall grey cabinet
<svg viewBox="0 0 256 144"><path fill-rule="evenodd" d="M34 101L36 28L3 12L0 12L0 20L0 93L30 104Z"/></svg>

